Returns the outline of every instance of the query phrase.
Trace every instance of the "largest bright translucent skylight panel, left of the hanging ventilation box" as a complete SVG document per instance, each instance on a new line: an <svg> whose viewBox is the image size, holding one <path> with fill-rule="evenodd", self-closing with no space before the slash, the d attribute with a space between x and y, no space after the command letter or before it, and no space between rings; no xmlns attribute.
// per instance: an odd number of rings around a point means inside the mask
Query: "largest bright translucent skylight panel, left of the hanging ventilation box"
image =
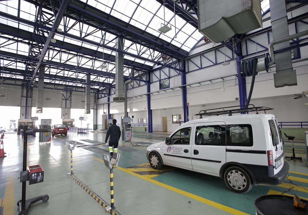
<svg viewBox="0 0 308 215"><path fill-rule="evenodd" d="M203 37L196 28L179 16L174 16L174 11L167 9L156 0L88 0L87 3L185 51L190 51ZM162 25L171 27L171 30L165 34L161 33L158 29ZM194 37L191 37L193 33Z"/></svg>

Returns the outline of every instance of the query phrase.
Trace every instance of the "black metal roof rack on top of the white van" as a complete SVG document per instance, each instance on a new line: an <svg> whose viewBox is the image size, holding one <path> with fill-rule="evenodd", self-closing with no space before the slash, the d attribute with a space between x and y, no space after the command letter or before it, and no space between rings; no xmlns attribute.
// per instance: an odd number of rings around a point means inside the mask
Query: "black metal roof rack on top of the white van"
<svg viewBox="0 0 308 215"><path fill-rule="evenodd" d="M228 109L228 108L232 108L232 109ZM264 113L266 113L265 111L273 110L273 109L274 108L268 108L268 107L255 107L253 104L243 104L243 105L230 106L230 107L224 107L224 108L213 108L213 109L208 109L208 110L202 110L196 115L200 115L200 119L202 119L202 115L210 116L210 115L229 114L229 116L232 116L233 113L246 113L246 112L251 112L251 111L257 111L256 114L258 114L258 111L264 111ZM216 110L216 111L213 111L213 110Z"/></svg>

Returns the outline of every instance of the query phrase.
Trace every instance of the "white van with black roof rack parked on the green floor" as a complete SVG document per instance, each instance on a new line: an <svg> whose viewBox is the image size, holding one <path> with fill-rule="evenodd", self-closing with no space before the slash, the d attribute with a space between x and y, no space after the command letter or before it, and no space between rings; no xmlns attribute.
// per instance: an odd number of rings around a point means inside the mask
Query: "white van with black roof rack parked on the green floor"
<svg viewBox="0 0 308 215"><path fill-rule="evenodd" d="M273 108L234 107L200 111L201 119L184 123L165 141L150 145L146 155L152 168L168 165L218 176L237 193L247 193L253 185L280 184L289 172L280 128L273 114L258 112ZM249 111L257 114L232 115Z"/></svg>

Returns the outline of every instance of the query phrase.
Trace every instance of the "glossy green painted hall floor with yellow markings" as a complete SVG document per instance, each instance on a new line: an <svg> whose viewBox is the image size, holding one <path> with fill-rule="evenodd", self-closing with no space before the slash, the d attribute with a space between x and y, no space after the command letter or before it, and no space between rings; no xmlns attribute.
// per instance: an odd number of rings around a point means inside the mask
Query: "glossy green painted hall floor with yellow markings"
<svg viewBox="0 0 308 215"><path fill-rule="evenodd" d="M51 143L39 143L39 137L28 136L27 166L40 164L44 182L33 185L27 182L26 199L49 195L47 202L31 205L28 214L109 214L104 206L111 204L110 170L101 155L109 154L102 143L105 135L104 132L68 134L53 137ZM148 146L163 141L167 135L135 132L133 142ZM19 213L17 202L22 196L19 177L23 139L14 132L6 133L2 140L7 157L0 158L0 215L13 215ZM71 172L71 155L65 144L68 140L78 142L73 150L73 176L86 187L82 188L68 175ZM296 194L308 200L305 143L294 142L294 148L296 157L302 157L302 161L288 159L290 171L281 185L254 186L249 193L237 194L221 178L173 167L154 170L146 159L146 147L120 141L120 162L113 170L113 214L255 214L254 200L262 195ZM284 150L286 156L292 155L291 142L285 142ZM85 189L90 191L87 193Z"/></svg>

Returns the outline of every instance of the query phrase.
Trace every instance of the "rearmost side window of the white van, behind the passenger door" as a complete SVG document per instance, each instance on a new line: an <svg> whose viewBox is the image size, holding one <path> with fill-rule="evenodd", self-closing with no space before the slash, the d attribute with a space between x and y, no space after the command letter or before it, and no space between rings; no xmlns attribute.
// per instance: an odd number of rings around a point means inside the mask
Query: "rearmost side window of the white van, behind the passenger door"
<svg viewBox="0 0 308 215"><path fill-rule="evenodd" d="M227 146L253 146L252 128L249 124L227 125Z"/></svg>

